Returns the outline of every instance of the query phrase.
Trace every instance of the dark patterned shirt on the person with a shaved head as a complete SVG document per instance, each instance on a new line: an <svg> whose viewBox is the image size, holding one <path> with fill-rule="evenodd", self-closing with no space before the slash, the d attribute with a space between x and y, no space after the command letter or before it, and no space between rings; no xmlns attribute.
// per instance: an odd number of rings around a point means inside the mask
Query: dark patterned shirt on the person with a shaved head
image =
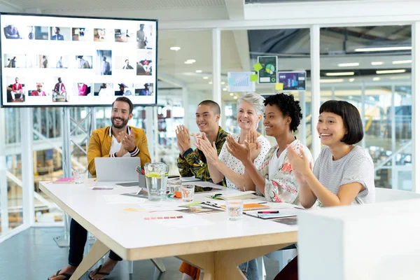
<svg viewBox="0 0 420 280"><path fill-rule="evenodd" d="M222 127L219 127L216 138L217 154L221 153L226 137L228 137L228 132L225 132L222 130ZM181 155L178 157L178 169L181 176L195 176L195 178L200 179L201 181L211 181L206 156L198 148L194 151L192 148L189 148L183 153L182 157ZM225 180L221 183L225 186Z"/></svg>

